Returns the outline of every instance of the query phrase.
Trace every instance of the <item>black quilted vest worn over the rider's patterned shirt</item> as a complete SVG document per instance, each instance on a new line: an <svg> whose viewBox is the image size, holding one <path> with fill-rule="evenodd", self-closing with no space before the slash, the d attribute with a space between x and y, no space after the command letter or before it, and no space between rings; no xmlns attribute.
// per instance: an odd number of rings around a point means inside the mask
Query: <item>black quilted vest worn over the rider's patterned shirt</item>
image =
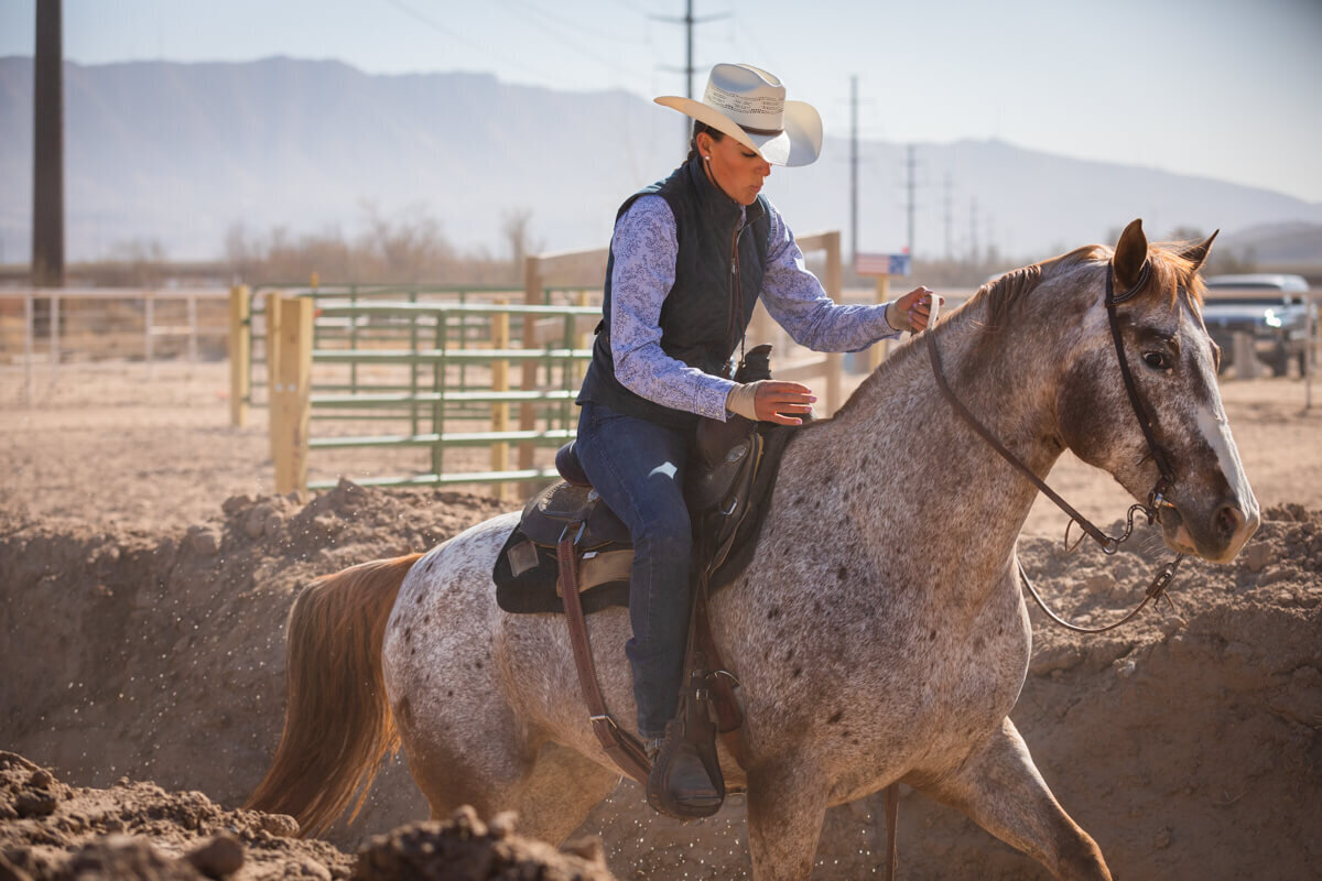
<svg viewBox="0 0 1322 881"><path fill-rule="evenodd" d="M719 375L748 328L761 289L769 234L765 199L759 195L747 207L747 218L736 239L739 203L709 181L702 160L694 159L677 168L666 180L631 195L616 213L616 222L637 198L648 194L661 195L670 206L680 240L674 287L661 305L661 350L690 367ZM695 425L697 415L646 400L615 378L615 361L611 358L613 268L612 250L605 265L602 297L604 318L598 325L592 363L583 379L578 403L604 404L617 413L676 428Z"/></svg>

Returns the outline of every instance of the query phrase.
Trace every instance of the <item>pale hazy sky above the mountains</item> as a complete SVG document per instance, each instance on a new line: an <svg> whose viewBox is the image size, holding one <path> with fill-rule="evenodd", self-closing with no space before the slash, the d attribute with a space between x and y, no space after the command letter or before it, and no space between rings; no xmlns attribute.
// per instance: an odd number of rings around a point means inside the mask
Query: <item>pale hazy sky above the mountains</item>
<svg viewBox="0 0 1322 881"><path fill-rule="evenodd" d="M34 0L0 0L30 55ZM559 90L683 94L683 0L65 0L65 57L338 58ZM863 137L998 137L1322 202L1322 0L694 0L694 88L759 65ZM657 108L658 114L673 111Z"/></svg>

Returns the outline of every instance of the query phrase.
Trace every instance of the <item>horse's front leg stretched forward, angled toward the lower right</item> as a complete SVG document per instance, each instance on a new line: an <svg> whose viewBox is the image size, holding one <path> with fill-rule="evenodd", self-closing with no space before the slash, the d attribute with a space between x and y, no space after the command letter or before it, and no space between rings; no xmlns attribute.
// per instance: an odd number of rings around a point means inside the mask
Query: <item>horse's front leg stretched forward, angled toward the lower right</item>
<svg viewBox="0 0 1322 881"><path fill-rule="evenodd" d="M1058 878L1110 880L1097 843L1056 802L1009 717L953 771L916 786L1035 857Z"/></svg>

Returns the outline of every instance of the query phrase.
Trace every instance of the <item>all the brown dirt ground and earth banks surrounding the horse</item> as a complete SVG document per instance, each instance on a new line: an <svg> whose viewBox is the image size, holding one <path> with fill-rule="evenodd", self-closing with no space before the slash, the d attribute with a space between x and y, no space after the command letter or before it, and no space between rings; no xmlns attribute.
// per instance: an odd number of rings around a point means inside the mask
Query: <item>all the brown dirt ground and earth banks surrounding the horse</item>
<svg viewBox="0 0 1322 881"><path fill-rule="evenodd" d="M0 372L0 750L22 757L0 754L0 857L30 877L74 877L78 865L217 877L237 843L235 877L348 877L358 844L426 818L402 761L327 841L293 841L283 820L235 810L279 737L288 605L316 575L424 549L510 503L348 482L274 497L264 415L227 427L223 365L157 365L149 382L140 365L103 365L38 391L24 404L20 375ZM1013 717L1120 878L1303 878L1322 859L1322 403L1303 412L1297 380L1222 392L1264 509L1240 557L1186 564L1174 609L1113 635L1080 638L1032 610ZM312 460L315 477L410 466L379 452ZM1069 457L1050 482L1101 523L1128 505ZM1066 559L1063 527L1039 502L1021 555L1051 601L1084 621L1132 604L1163 559L1153 536L1113 559L1087 546ZM880 826L875 798L834 808L814 877L879 870ZM485 837L504 840L505 824L493 827ZM431 832L378 839L395 856L377 863L420 852ZM602 837L620 878L748 874L738 798L678 824L621 785L579 832ZM197 856L204 845L219 856ZM572 872L605 877L584 853ZM900 870L1047 877L907 790Z"/></svg>

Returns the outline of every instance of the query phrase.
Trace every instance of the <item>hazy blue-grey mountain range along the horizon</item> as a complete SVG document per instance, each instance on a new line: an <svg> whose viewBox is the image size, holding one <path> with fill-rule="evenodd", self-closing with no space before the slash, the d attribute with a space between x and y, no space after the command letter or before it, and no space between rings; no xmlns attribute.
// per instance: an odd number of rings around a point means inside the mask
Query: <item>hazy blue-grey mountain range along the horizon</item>
<svg viewBox="0 0 1322 881"><path fill-rule="evenodd" d="M566 92L489 74L373 75L337 61L65 63L70 259L159 243L222 256L229 230L338 230L430 215L456 247L500 255L527 214L545 250L602 247L619 203L683 157L683 118L624 91ZM798 232L845 230L847 133L765 193ZM908 145L859 144L862 251L907 242ZM1322 263L1322 203L1224 181L964 140L915 144L919 256L997 248L1040 259L1108 242L1222 229L1222 247ZM32 59L0 58L0 263L30 243ZM1282 238L1284 236L1284 238Z"/></svg>

